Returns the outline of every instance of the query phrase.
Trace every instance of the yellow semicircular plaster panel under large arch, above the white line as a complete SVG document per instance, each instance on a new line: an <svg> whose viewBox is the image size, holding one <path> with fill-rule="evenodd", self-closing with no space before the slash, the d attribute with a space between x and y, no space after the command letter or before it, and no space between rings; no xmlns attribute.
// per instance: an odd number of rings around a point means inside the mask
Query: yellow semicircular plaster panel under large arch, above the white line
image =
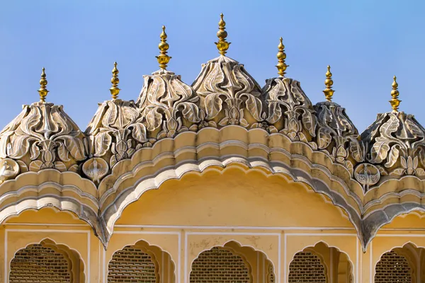
<svg viewBox="0 0 425 283"><path fill-rule="evenodd" d="M130 204L116 224L353 227L305 185L238 168L168 180Z"/></svg>

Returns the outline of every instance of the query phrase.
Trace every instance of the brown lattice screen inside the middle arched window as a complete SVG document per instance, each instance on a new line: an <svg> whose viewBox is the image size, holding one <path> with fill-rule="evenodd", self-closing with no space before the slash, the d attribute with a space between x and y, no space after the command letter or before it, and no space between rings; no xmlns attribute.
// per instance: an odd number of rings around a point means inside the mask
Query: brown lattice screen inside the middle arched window
<svg viewBox="0 0 425 283"><path fill-rule="evenodd" d="M212 248L192 264L191 283L251 283L249 267L232 250Z"/></svg>

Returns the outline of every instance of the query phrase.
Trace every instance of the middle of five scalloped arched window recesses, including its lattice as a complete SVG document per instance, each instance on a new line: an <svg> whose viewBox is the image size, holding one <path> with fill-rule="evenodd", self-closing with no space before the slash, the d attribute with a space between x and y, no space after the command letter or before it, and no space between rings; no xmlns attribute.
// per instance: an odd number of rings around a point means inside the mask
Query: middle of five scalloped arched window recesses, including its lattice
<svg viewBox="0 0 425 283"><path fill-rule="evenodd" d="M259 258L263 258L263 262ZM212 262L209 261L211 259ZM229 267L228 263L232 267ZM259 268L260 264L263 268ZM275 265L263 250L242 245L236 240L200 250L196 257L188 262L188 267L189 283L198 282L196 279L200 278L205 282L204 277L210 277L208 278L210 282L220 282L220 279L228 279L230 276L227 273L229 268L237 269L235 273L239 278L235 282L261 282L259 280L261 277L268 279L267 282L279 282ZM265 272L261 273L262 270Z"/></svg>

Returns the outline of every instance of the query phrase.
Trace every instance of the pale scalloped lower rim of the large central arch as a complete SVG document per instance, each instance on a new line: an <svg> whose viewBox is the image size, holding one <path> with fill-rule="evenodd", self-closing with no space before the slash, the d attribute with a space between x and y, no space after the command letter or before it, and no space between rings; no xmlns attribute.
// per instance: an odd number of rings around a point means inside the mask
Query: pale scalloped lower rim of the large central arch
<svg viewBox="0 0 425 283"><path fill-rule="evenodd" d="M166 166L162 168L162 171L159 171L154 175L145 176L141 180L138 180L134 186L128 187L123 190L123 192L120 192L119 195L114 197L113 202L108 204L105 209L101 209L99 216L103 231L105 231L106 244L112 236L115 222L118 221L125 207L128 207L128 205L133 202L140 200L140 197L142 197L145 192L159 189L160 186L167 180L180 180L183 175L186 175L187 173L202 174L210 170L224 172L227 168L239 168L244 172L259 170L266 175L280 175L285 178L288 183L301 183L302 185L311 188L314 192L329 197L332 204L346 212L348 219L356 229L358 238L361 239L361 241L363 240L363 234L361 231L361 216L358 214L358 211L349 202L347 202L343 195L331 190L322 180L315 177L313 178L309 173L303 171L301 168L290 168L288 165L278 162L262 160L251 161L248 158L241 156L229 156L222 160L219 159L220 158L211 158L200 163L180 163L178 166ZM339 183L337 181L335 182ZM103 202L105 200L103 200Z"/></svg>

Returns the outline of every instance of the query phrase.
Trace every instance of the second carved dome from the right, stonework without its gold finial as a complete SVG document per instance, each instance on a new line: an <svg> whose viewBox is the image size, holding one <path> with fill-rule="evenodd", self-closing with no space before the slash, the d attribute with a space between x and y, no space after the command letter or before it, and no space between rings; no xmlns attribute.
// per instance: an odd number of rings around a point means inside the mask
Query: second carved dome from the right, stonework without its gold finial
<svg viewBox="0 0 425 283"><path fill-rule="evenodd" d="M327 151L333 161L346 166L353 174L356 163L364 161L364 146L356 127L346 115L345 108L332 101L314 105L318 120L318 149Z"/></svg>

